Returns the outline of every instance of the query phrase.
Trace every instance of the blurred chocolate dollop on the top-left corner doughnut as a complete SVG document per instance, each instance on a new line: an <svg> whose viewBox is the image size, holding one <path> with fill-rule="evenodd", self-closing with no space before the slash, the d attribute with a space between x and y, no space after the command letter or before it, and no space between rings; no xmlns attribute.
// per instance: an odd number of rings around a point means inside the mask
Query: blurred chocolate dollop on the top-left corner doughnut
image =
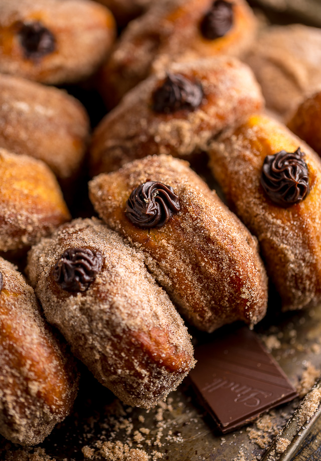
<svg viewBox="0 0 321 461"><path fill-rule="evenodd" d="M39 22L21 26L19 38L28 59L38 59L55 51L56 41L52 32Z"/></svg>

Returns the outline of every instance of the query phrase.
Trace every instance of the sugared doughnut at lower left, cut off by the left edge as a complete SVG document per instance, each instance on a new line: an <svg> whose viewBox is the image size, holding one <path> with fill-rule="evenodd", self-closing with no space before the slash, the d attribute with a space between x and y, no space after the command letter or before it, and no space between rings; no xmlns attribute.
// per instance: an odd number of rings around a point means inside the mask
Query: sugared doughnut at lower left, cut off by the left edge
<svg viewBox="0 0 321 461"><path fill-rule="evenodd" d="M70 412L78 377L41 317L32 287L3 258L0 271L0 433L33 445Z"/></svg>

